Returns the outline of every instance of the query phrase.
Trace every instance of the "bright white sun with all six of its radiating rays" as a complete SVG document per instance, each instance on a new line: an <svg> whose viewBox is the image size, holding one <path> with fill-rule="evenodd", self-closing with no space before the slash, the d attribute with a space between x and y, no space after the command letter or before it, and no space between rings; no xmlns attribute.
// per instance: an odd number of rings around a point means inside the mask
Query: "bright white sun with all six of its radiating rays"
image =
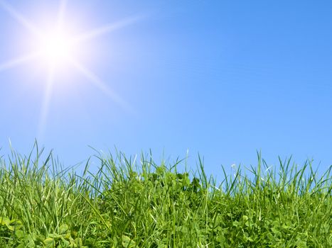
<svg viewBox="0 0 332 248"><path fill-rule="evenodd" d="M33 50L28 51L26 54L0 63L0 72L6 69L11 69L12 67L17 67L21 64L36 62L36 60L42 61L43 64L48 67L48 69L45 70L45 94L43 104L41 106L41 117L38 131L40 135L43 135L43 129L45 128L45 120L48 115L53 84L58 82L56 81L55 76L59 73L59 67L73 67L76 72L97 86L122 108L125 108L127 111L132 111L132 108L125 101L123 101L120 96L115 94L112 89L109 89L109 86L102 81L102 79L97 77L96 74L91 72L90 69L82 64L78 55L80 53L80 45L82 43L135 23L141 17L132 16L122 21L109 23L106 26L95 28L94 30L87 30L74 36L73 33L65 30L65 27L68 26L66 24L70 23L70 21L65 19L67 1L68 0L59 0L59 10L57 13L58 20L54 23L55 28L46 27L47 30L52 30L52 32L45 33L38 29L38 25L35 25L29 21L26 16L23 16L9 3L4 0L0 0L0 8L6 11L9 16L14 18L15 21L20 23L31 33L31 38L28 38L28 40L31 40L34 47ZM3 13L1 13L1 15L2 14ZM24 38L24 40L26 40L26 38ZM15 49L15 47L13 48Z"/></svg>

